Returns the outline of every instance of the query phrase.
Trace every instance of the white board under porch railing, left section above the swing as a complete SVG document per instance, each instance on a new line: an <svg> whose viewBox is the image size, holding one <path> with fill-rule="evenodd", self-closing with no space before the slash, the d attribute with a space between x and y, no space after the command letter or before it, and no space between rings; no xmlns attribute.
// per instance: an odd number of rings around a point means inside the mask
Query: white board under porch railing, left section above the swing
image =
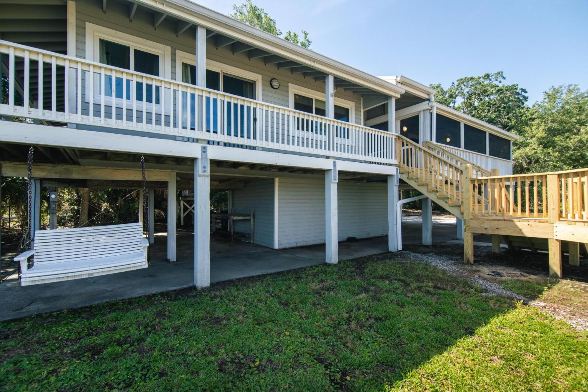
<svg viewBox="0 0 588 392"><path fill-rule="evenodd" d="M2 121L0 141L167 157L200 157L200 149L189 142L12 121Z"/></svg>

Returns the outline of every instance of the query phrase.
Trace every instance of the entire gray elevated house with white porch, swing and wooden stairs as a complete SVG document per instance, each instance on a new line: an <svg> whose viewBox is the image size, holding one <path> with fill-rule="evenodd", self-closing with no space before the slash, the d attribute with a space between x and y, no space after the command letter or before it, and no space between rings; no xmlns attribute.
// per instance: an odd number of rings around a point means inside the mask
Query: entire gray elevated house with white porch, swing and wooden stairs
<svg viewBox="0 0 588 392"><path fill-rule="evenodd" d="M548 249L556 277L563 249L570 263L584 253L588 170L513 175L518 137L439 104L426 85L185 0L26 3L6 6L0 24L1 176L31 186L32 239L15 257L21 280L0 285L24 313L3 317L25 314L34 293L46 303L29 308L44 311L48 298L78 306L396 252L415 228L430 245L432 202L456 217L441 231L463 238L466 263L475 233L492 235L496 252L501 236ZM138 190L129 223L143 232L58 228L55 198L41 231L44 188ZM402 190L420 196L399 200ZM225 212L211 212L215 192ZM415 198L422 221L406 226L400 211ZM252 243L217 237L222 228Z"/></svg>

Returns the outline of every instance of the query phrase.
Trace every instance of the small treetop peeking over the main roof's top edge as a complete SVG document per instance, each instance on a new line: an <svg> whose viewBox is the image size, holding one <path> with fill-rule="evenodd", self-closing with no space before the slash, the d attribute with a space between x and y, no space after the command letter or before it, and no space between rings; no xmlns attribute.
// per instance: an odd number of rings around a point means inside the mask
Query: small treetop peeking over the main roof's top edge
<svg viewBox="0 0 588 392"><path fill-rule="evenodd" d="M271 18L265 9L256 6L251 0L246 0L240 5L233 5L233 12L229 16L250 26L262 29L269 34L281 36L282 31L276 26L276 19ZM312 41L308 38L308 31L302 30L302 38L296 33L288 30L284 36L286 41L309 48Z"/></svg>

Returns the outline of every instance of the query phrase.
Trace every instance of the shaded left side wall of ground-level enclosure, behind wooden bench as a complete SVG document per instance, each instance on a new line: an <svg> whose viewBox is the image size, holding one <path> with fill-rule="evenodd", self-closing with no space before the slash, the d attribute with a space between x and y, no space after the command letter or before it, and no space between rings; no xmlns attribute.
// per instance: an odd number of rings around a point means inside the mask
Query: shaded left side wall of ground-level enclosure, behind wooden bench
<svg viewBox="0 0 588 392"><path fill-rule="evenodd" d="M273 248L273 179L248 182L245 188L233 191L232 207L238 214L255 210L254 242ZM250 221L236 221L235 230L249 234Z"/></svg>

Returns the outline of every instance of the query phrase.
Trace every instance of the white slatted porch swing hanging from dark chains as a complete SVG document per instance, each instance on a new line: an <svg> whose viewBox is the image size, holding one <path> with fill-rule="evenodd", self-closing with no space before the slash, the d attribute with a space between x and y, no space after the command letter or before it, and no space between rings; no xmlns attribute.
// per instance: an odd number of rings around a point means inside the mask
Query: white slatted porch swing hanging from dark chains
<svg viewBox="0 0 588 392"><path fill-rule="evenodd" d="M19 265L21 286L114 274L148 267L149 241L143 238L143 223L72 229L36 230L31 238L32 154L28 157L29 228L24 253L14 258ZM145 161L141 157L143 210L147 192ZM143 211L147 219L146 211ZM145 227L149 227L145 222ZM32 263L30 262L32 258Z"/></svg>

